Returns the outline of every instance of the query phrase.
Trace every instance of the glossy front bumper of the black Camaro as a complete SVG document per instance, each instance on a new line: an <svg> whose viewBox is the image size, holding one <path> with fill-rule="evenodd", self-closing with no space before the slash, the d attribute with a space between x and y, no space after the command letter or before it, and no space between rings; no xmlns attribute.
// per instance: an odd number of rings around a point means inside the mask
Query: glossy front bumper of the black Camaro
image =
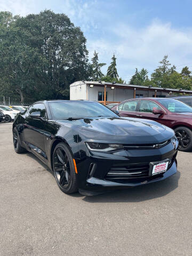
<svg viewBox="0 0 192 256"><path fill-rule="evenodd" d="M89 191L124 189L164 180L177 172L177 151L177 148L173 147L172 143L160 149L123 150L114 154L95 153L89 150L84 151L84 154L82 154L83 151L81 151L83 159L79 162L77 161L79 192L84 195L90 195ZM150 176L149 169L145 166L149 166L150 162L160 162L167 158L170 159L167 171ZM90 166L92 164L95 164L95 170L90 175ZM132 171L133 175L129 172L130 167L132 170L134 169ZM138 175L139 170L136 169L145 170ZM122 174L122 171L114 170L123 170L123 172L128 170L129 175L131 175L125 179L122 178L122 175L119 178L114 178L113 172ZM109 175L111 173L113 174Z"/></svg>

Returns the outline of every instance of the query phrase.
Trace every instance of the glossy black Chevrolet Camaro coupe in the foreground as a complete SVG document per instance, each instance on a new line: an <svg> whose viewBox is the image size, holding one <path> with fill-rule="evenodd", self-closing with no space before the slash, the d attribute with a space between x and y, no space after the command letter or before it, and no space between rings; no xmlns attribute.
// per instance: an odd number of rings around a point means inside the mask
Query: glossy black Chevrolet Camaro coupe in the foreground
<svg viewBox="0 0 192 256"><path fill-rule="evenodd" d="M34 153L65 193L83 195L166 179L178 140L154 121L123 118L94 101L39 101L13 123L17 153ZM45 182L45 181L44 181Z"/></svg>

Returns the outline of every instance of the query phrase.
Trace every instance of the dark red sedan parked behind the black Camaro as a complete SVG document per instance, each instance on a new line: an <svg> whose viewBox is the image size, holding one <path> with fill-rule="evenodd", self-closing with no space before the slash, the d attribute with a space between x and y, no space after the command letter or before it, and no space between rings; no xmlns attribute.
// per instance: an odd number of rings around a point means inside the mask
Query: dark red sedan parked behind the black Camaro
<svg viewBox="0 0 192 256"><path fill-rule="evenodd" d="M123 117L154 120L169 126L179 140L179 150L192 149L192 108L170 98L142 98L125 100L113 108Z"/></svg>

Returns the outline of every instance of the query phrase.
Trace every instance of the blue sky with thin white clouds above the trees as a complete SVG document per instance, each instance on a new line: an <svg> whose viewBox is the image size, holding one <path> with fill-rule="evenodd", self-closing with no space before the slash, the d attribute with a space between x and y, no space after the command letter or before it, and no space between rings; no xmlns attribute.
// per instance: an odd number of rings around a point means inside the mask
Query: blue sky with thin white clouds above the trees
<svg viewBox="0 0 192 256"><path fill-rule="evenodd" d="M25 16L50 9L65 13L81 27L89 59L96 50L107 65L115 53L119 77L129 82L135 72L150 74L164 55L178 71L192 70L191 0L0 0L0 11Z"/></svg>

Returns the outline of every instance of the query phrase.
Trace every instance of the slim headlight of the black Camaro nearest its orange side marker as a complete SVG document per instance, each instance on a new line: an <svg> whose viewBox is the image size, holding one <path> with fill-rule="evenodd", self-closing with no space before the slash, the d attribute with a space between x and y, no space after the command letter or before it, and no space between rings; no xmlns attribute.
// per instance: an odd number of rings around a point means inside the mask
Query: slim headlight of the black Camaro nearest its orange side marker
<svg viewBox="0 0 192 256"><path fill-rule="evenodd" d="M85 142L89 150L94 151L114 151L123 149L122 144L108 144L108 143L98 143L98 142Z"/></svg>

